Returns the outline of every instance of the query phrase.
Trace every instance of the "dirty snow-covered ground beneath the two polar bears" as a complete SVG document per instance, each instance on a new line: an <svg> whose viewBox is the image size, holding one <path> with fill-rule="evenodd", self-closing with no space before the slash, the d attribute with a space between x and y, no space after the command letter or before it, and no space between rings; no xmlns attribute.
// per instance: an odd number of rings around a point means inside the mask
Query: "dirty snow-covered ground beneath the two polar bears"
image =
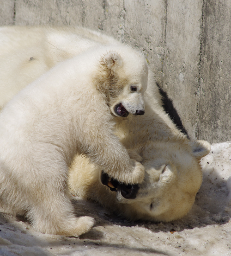
<svg viewBox="0 0 231 256"><path fill-rule="evenodd" d="M1 256L230 256L231 142L213 144L201 161L203 183L189 214L168 224L128 222L73 198L79 214L97 220L85 235L44 235L0 212ZM81 205L81 207L79 207Z"/></svg>

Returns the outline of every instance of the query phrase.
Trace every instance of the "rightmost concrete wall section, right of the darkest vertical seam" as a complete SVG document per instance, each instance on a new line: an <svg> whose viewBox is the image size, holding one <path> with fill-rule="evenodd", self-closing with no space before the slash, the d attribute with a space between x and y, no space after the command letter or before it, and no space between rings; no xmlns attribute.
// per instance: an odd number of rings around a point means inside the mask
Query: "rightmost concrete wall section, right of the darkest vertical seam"
<svg viewBox="0 0 231 256"><path fill-rule="evenodd" d="M204 3L197 136L231 138L231 1Z"/></svg>

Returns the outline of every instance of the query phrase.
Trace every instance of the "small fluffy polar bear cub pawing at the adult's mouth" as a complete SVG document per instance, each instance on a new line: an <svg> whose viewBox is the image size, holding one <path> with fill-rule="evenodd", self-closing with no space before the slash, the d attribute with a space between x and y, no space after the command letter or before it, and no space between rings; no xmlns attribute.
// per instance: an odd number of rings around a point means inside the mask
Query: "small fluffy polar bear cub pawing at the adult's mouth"
<svg viewBox="0 0 231 256"><path fill-rule="evenodd" d="M0 114L0 202L43 233L79 236L94 224L77 218L68 166L86 155L126 184L144 167L113 133L113 116L143 115L148 68L127 46L98 46L31 83Z"/></svg>

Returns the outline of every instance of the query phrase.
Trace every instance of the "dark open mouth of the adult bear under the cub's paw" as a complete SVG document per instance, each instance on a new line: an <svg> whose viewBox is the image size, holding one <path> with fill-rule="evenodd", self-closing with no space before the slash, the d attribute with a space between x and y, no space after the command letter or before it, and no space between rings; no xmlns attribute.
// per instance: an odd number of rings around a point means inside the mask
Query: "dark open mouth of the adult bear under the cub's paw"
<svg viewBox="0 0 231 256"><path fill-rule="evenodd" d="M126 199L136 198L136 194L139 190L139 186L137 184L125 185L114 178L110 178L108 174L103 173L103 171L101 173L101 182L103 185L108 186L110 191L119 191L122 197Z"/></svg>

